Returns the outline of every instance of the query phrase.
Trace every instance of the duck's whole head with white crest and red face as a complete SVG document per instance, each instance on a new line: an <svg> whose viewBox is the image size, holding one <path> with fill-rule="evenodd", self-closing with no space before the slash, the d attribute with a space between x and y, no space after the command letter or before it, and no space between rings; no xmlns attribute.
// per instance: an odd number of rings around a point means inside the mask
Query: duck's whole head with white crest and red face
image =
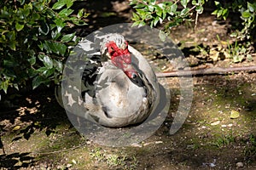
<svg viewBox="0 0 256 170"><path fill-rule="evenodd" d="M137 78L137 71L131 65L131 52L125 37L119 34L108 34L102 41L101 54L111 59L113 65L125 72L131 79Z"/></svg>

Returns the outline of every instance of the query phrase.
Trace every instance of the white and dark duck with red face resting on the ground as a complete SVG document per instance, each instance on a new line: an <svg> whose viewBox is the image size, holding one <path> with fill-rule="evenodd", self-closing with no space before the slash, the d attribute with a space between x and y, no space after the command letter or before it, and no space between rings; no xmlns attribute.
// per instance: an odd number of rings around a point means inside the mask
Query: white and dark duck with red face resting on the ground
<svg viewBox="0 0 256 170"><path fill-rule="evenodd" d="M73 73L79 81L70 83L66 78L55 88L56 99L66 111L104 127L135 126L155 111L160 83L147 59L124 36L87 37L73 51L63 74L77 68ZM68 62L73 64L67 66ZM70 74L68 78L72 79Z"/></svg>

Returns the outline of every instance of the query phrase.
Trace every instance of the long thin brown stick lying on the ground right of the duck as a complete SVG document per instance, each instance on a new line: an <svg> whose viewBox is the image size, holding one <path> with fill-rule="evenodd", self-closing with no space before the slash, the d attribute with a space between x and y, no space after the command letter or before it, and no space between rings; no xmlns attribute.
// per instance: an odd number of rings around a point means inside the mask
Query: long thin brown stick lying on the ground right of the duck
<svg viewBox="0 0 256 170"><path fill-rule="evenodd" d="M185 76L202 76L202 75L223 75L237 71L256 71L256 65L242 67L212 67L208 69L188 70L188 71L167 71L157 72L156 77L185 77Z"/></svg>

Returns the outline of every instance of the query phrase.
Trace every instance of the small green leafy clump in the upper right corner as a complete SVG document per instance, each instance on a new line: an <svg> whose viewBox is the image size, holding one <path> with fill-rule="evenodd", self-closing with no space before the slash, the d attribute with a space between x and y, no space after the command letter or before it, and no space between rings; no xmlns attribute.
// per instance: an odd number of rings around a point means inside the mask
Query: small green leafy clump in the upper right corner
<svg viewBox="0 0 256 170"><path fill-rule="evenodd" d="M218 18L223 18L226 20L230 14L230 10L235 13L239 12L241 14L242 28L240 31L233 33L232 36L241 40L253 38L253 33L255 33L253 31L256 24L256 2L254 0L236 0L224 4L216 1L215 5L217 9L214 10L212 14L216 14Z"/></svg>

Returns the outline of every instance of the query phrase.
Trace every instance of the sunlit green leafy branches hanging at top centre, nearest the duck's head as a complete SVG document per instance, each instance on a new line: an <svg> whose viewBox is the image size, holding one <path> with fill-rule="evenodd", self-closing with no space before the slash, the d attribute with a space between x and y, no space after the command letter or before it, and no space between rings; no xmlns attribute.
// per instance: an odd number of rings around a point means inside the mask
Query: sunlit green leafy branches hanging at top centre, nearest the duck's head
<svg viewBox="0 0 256 170"><path fill-rule="evenodd" d="M130 5L136 9L133 13L133 26L151 27L163 24L162 31L170 33L170 28L178 26L184 21L191 21L194 12L196 15L203 12L205 0L176 0L158 3L156 0L132 0ZM178 5L182 8L178 8Z"/></svg>

